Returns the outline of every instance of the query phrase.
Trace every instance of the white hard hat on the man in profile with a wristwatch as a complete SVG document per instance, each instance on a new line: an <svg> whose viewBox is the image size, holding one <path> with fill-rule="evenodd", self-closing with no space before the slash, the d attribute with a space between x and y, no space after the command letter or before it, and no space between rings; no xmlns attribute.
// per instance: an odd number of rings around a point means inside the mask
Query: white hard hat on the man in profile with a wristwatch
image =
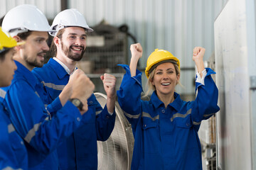
<svg viewBox="0 0 256 170"><path fill-rule="evenodd" d="M28 30L53 31L50 29L46 16L36 6L28 4L16 6L6 13L2 28L12 37Z"/></svg>

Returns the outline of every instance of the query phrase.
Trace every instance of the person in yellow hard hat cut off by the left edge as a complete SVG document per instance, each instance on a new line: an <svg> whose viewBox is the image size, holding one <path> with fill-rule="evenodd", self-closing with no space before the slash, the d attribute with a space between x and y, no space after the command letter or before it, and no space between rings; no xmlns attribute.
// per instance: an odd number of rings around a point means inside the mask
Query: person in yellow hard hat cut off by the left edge
<svg viewBox="0 0 256 170"><path fill-rule="evenodd" d="M14 47L22 44L0 27L0 87L11 84L17 69L13 60ZM28 169L28 153L2 103L4 96L5 92L0 89L0 169Z"/></svg>

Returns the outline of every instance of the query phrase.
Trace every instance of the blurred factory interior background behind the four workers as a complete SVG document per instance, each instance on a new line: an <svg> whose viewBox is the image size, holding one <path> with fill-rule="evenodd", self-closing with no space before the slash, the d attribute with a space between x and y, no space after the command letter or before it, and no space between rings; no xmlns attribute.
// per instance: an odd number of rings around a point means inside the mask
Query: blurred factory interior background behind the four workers
<svg viewBox="0 0 256 170"><path fill-rule="evenodd" d="M217 73L213 79L219 89L220 112L204 121L198 132L202 144L203 169L256 169L256 108L253 103L256 101L255 1L0 2L0 17L20 4L36 5L46 15L49 23L65 8L77 8L85 16L88 26L95 31L87 36L85 56L78 62L78 67L95 83L96 96L102 105L105 104L105 96L102 95L104 89L100 75L105 72L114 74L118 90L124 70L117 64L129 64L129 46L134 42L141 43L143 47L139 70L143 73L144 91L147 90L144 74L147 57L156 48L164 49L181 62L183 86L177 86L176 92L185 101L196 97L193 47L206 48L205 66ZM50 53L46 56L46 62L49 57L52 57ZM109 169L129 169L133 137L131 127L122 113L118 113L116 126L119 127L115 128L109 140L98 142L99 169L105 169L105 164L112 167Z"/></svg>

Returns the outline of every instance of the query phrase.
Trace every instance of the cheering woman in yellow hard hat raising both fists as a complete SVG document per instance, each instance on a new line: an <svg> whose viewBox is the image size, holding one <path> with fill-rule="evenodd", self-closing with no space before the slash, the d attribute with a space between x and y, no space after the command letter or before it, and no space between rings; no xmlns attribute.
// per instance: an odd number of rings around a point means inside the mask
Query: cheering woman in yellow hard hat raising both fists
<svg viewBox="0 0 256 170"><path fill-rule="evenodd" d="M142 72L137 62L142 57L142 46L131 45L129 67L122 65L126 74L117 97L134 135L132 169L202 169L201 143L198 129L202 120L219 111L218 89L203 65L203 47L195 47L196 63L195 101L182 101L175 92L180 79L180 62L171 52L156 49L146 62L149 101L141 100Z"/></svg>

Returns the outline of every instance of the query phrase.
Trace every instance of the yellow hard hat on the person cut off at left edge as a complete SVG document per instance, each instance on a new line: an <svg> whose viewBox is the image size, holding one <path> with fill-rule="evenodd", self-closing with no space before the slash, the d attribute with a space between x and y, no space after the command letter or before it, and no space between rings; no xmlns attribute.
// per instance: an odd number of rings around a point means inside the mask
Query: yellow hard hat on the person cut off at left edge
<svg viewBox="0 0 256 170"><path fill-rule="evenodd" d="M6 48L15 47L17 45L23 45L25 42L16 42L9 33L2 30L0 27L0 52L4 52Z"/></svg>

